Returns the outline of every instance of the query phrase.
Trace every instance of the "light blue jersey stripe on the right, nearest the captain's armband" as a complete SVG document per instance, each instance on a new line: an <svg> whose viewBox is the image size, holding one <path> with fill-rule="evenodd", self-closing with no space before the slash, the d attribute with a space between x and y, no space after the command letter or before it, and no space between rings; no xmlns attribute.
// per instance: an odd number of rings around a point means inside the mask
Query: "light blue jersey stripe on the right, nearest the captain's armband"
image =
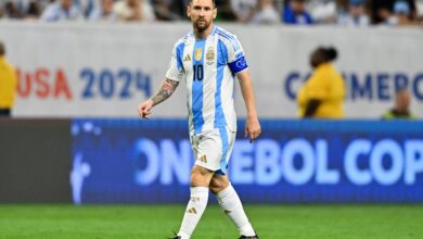
<svg viewBox="0 0 423 239"><path fill-rule="evenodd" d="M225 64L219 64L220 62L226 62L228 59L228 49L225 43L219 40L217 46L217 74L216 74L216 92L215 92L215 122L214 127L220 128L227 125L225 120L223 109L221 105L221 84L223 80L223 71Z"/></svg>

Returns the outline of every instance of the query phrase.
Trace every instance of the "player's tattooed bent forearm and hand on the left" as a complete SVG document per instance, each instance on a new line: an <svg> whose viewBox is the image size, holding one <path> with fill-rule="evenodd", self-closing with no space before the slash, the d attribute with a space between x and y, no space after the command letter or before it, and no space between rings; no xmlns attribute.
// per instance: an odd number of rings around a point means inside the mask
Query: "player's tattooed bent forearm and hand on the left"
<svg viewBox="0 0 423 239"><path fill-rule="evenodd" d="M168 78L163 80L158 92L154 97L138 105L138 114L143 118L149 118L153 106L167 100L175 92L178 85L179 81L175 81Z"/></svg>

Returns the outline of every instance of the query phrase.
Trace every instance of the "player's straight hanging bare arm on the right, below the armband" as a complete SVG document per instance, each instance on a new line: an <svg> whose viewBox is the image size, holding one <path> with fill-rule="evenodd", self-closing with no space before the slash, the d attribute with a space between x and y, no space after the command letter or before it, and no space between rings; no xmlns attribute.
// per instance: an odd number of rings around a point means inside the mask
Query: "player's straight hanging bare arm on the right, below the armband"
<svg viewBox="0 0 423 239"><path fill-rule="evenodd" d="M254 139L258 138L261 133L260 123L258 122L254 102L255 100L252 77L248 70L244 70L238 73L236 76L240 81L242 97L244 98L247 111L247 118L245 122L245 137L249 137L249 141L252 142Z"/></svg>

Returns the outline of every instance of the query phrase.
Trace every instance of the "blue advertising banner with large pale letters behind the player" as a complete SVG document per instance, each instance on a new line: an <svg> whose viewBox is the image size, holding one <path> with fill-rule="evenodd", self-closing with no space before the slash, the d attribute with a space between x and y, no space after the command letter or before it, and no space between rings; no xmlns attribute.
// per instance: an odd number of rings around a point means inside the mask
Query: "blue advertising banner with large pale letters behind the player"
<svg viewBox="0 0 423 239"><path fill-rule="evenodd" d="M229 176L244 202L423 202L423 123L261 121ZM194 163L185 120L75 120L74 202L185 203Z"/></svg>

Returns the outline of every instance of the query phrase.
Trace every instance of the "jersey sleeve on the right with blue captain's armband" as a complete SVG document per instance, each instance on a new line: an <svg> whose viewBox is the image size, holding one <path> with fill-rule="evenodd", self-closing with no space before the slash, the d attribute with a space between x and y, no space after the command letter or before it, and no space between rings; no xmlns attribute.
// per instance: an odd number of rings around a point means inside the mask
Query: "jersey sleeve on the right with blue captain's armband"
<svg viewBox="0 0 423 239"><path fill-rule="evenodd" d="M229 46L228 49L228 65L233 74L244 71L248 68L247 62L244 56L244 50L241 47L240 41L235 36L231 37L227 41Z"/></svg>

